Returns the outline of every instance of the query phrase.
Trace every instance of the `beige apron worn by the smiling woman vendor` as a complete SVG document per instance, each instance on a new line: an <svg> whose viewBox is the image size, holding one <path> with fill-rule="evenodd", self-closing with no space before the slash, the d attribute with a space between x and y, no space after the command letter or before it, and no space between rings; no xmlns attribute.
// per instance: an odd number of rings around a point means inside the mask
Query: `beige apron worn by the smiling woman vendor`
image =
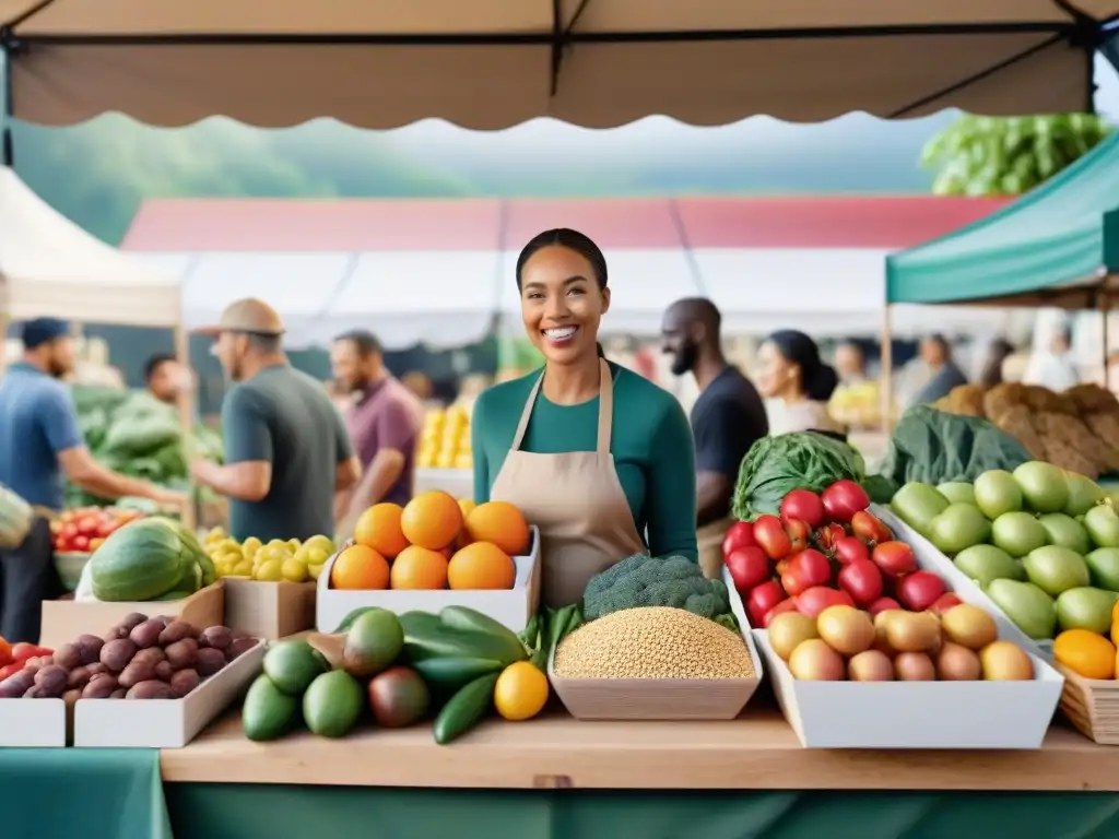
<svg viewBox="0 0 1119 839"><path fill-rule="evenodd" d="M490 498L515 503L539 527L543 598L546 605L558 607L577 603L591 577L628 556L646 553L646 547L610 454L614 407L610 367L601 361L598 449L593 452L520 451L543 380L542 373Z"/></svg>

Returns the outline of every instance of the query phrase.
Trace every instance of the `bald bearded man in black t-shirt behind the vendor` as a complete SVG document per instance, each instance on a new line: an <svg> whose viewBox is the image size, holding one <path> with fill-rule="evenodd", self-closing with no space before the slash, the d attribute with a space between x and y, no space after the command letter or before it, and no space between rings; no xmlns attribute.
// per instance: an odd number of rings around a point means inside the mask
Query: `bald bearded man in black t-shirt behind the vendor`
<svg viewBox="0 0 1119 839"><path fill-rule="evenodd" d="M690 373L699 386L699 398L692 407L692 434L699 563L707 576L721 573L723 537L732 521L731 497L742 459L755 441L769 434L761 396L723 356L721 321L709 300L688 298L673 303L661 322L673 373Z"/></svg>

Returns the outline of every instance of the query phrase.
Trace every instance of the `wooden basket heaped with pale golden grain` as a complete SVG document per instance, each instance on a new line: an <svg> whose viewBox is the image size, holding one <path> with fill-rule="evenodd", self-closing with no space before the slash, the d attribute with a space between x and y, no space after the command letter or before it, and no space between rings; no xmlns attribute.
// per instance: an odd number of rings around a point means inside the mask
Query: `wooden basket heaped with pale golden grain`
<svg viewBox="0 0 1119 839"><path fill-rule="evenodd" d="M762 669L749 630L642 606L567 635L552 652L548 679L576 719L734 719Z"/></svg>

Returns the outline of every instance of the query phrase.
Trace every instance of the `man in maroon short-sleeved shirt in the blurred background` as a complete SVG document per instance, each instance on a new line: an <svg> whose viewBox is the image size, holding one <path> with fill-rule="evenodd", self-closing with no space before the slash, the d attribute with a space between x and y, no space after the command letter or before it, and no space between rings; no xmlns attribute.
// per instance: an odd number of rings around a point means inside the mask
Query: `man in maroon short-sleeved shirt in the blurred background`
<svg viewBox="0 0 1119 839"><path fill-rule="evenodd" d="M366 330L335 339L330 365L336 387L349 395L346 425L365 470L360 487L339 497L338 518L356 519L367 507L412 500L415 450L423 404L385 369L380 342ZM348 530L348 524L341 528Z"/></svg>

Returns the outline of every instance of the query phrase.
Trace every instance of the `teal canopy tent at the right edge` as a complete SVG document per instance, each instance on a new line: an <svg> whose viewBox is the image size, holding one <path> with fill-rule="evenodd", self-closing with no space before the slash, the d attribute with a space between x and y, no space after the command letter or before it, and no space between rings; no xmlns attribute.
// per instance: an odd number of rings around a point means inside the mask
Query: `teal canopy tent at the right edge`
<svg viewBox="0 0 1119 839"><path fill-rule="evenodd" d="M887 257L886 302L1106 308L1117 272L1119 134L1002 210Z"/></svg>

